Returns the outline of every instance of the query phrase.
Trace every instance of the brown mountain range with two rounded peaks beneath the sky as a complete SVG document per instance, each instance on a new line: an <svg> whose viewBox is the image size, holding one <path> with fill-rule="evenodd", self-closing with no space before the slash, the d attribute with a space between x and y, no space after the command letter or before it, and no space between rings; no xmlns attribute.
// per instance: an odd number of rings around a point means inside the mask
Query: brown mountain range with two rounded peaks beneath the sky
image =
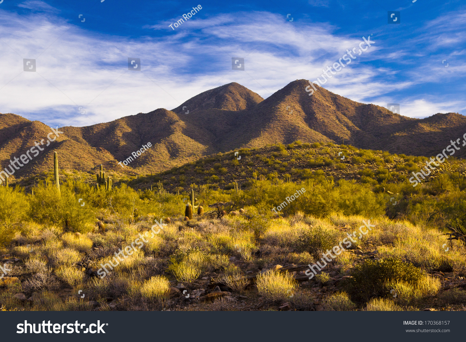
<svg viewBox="0 0 466 342"><path fill-rule="evenodd" d="M156 109L86 127L63 127L63 133L15 176L49 171L54 150L62 169L94 172L103 164L107 170L147 173L217 152L295 140L431 156L466 131L466 117L458 113L413 119L321 87L309 96L305 91L308 85L307 80L296 80L264 100L233 82L207 90L172 110ZM26 153L36 141L46 142L50 131L41 122L0 114L1 167ZM152 147L128 166L118 164L149 142ZM464 155L460 150L455 157Z"/></svg>

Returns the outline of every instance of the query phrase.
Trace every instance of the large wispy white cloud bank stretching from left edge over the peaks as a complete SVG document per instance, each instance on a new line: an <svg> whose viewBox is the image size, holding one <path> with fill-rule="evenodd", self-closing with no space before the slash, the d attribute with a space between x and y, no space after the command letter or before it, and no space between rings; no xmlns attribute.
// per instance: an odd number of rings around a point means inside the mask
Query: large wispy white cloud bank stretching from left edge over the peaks
<svg viewBox="0 0 466 342"><path fill-rule="evenodd" d="M22 5L37 9L41 3L26 1ZM75 26L50 14L18 15L0 10L0 22L1 112L66 125L172 109L229 82L267 97L295 79L315 80L322 68L361 41L335 34L336 27L329 24L297 27L268 12L193 18L175 31L168 27L173 21L167 21L147 26L156 31L166 29L166 35L137 40L96 35L85 29L86 23ZM367 63L386 58L381 55L382 46L379 39L324 87L360 102L367 98L380 101L378 97L390 91L411 87L420 68L411 71L412 79L391 82L387 75L393 77L396 70ZM405 55L409 51L396 52L392 58ZM128 70L128 57L141 59L141 72ZM245 58L245 71L232 70L231 57ZM37 72L22 71L23 58L36 59ZM85 115L79 114L80 106ZM418 108L427 110L427 116L432 107L428 103Z"/></svg>

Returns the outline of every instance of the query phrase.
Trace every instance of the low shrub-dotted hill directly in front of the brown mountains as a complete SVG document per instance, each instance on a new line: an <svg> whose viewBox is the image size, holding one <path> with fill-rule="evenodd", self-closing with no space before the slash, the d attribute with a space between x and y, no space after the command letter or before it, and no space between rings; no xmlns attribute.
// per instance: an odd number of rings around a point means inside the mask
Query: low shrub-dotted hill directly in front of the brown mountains
<svg viewBox="0 0 466 342"><path fill-rule="evenodd" d="M251 179L300 182L317 176L356 180L370 185L404 183L411 172L420 171L427 157L390 154L381 150L362 150L349 145L295 142L254 149L217 153L152 176L139 176L129 182L136 189L156 189L161 181L172 193L183 192L195 184L211 188L233 189L236 181L243 189ZM240 159L238 160L238 157ZM423 180L432 181L438 174L451 171L448 161Z"/></svg>

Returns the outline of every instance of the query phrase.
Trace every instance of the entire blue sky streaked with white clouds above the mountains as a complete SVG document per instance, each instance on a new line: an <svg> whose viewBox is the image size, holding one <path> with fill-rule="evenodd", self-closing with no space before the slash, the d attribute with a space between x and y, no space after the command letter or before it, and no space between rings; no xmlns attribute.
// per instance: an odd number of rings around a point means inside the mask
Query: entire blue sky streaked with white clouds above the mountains
<svg viewBox="0 0 466 342"><path fill-rule="evenodd" d="M229 82L267 98L315 80L372 34L326 89L400 103L404 116L466 114L463 0L197 1L3 0L0 112L84 126L173 109ZM388 11L400 12L400 24L388 23ZM129 57L141 71L128 70ZM232 57L244 58L244 71L232 70ZM36 72L23 59L35 59Z"/></svg>

